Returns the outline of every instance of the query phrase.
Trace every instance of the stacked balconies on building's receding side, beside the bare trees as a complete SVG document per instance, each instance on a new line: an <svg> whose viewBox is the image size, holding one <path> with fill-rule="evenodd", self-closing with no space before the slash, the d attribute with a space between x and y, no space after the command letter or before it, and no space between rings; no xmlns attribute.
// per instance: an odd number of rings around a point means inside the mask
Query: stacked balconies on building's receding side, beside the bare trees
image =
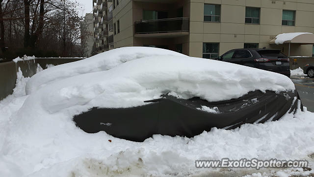
<svg viewBox="0 0 314 177"><path fill-rule="evenodd" d="M113 48L112 0L93 0L94 50L102 53Z"/></svg>

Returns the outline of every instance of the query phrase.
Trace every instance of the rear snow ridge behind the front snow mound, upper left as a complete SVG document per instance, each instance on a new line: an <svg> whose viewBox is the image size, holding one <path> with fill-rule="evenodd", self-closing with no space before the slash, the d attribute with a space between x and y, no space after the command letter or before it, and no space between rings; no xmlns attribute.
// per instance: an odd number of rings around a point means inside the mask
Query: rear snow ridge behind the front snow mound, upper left
<svg viewBox="0 0 314 177"><path fill-rule="evenodd" d="M150 56L184 57L185 55L170 50L159 48L152 49L150 47L124 47L113 49L87 59L45 69L40 75L35 74L26 85L26 94L30 94L50 82L80 74L105 71L121 63Z"/></svg>

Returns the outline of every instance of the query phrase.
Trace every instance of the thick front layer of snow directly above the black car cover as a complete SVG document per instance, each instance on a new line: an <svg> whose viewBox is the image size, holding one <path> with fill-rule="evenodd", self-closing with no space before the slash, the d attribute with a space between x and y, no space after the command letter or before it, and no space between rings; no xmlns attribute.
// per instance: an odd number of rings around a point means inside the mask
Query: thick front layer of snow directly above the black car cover
<svg viewBox="0 0 314 177"><path fill-rule="evenodd" d="M45 71L37 75L49 73ZM30 81L36 82L32 78ZM294 89L291 80L281 74L217 60L163 56L135 59L106 71L54 81L33 92L26 105L34 106L35 112L42 109L50 114L67 110L71 117L78 113L76 110L92 107L141 106L169 91L212 102L238 98L255 90Z"/></svg>

